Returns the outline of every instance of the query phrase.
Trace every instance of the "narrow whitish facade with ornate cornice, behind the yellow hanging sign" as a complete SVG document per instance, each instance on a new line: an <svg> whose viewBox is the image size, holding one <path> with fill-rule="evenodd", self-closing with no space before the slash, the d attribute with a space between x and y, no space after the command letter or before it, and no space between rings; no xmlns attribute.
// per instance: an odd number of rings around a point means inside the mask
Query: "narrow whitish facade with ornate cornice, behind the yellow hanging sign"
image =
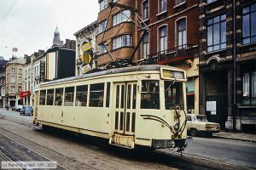
<svg viewBox="0 0 256 170"><path fill-rule="evenodd" d="M92 50L92 56L91 61L91 67L95 68L96 63L96 54L98 53L98 45L96 43L96 35L98 34L98 22L97 20L93 23L91 23L89 26L85 26L83 29L75 32L73 35L76 37L77 40L77 46L76 46L76 76L84 74L84 64L86 63L84 59L82 59L84 55L84 51L82 48L83 44L90 43L91 50ZM86 52L85 52L86 53Z"/></svg>

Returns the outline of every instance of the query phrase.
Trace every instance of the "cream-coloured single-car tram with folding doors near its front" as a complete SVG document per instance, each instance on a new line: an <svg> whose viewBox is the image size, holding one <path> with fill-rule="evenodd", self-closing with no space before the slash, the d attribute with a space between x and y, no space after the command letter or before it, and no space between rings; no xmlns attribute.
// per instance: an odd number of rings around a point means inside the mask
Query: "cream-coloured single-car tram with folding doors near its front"
<svg viewBox="0 0 256 170"><path fill-rule="evenodd" d="M166 65L111 69L39 84L33 123L127 148L183 149L185 71Z"/></svg>

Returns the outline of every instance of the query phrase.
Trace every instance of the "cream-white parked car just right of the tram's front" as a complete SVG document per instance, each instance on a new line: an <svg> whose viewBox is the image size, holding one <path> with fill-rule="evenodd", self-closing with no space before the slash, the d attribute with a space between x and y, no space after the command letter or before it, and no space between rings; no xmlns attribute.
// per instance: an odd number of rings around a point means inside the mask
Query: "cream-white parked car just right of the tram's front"
<svg viewBox="0 0 256 170"><path fill-rule="evenodd" d="M187 129L191 136L206 134L212 136L212 133L218 133L220 126L216 122L208 122L205 115L187 115Z"/></svg>

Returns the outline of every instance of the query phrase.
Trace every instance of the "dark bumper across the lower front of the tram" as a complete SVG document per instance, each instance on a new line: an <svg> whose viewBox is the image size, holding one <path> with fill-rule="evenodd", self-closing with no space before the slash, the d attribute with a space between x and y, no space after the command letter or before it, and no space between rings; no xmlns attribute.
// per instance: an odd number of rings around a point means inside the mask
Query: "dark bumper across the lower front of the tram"
<svg viewBox="0 0 256 170"><path fill-rule="evenodd" d="M185 148L190 144L192 144L192 137L187 139L152 139L154 149Z"/></svg>

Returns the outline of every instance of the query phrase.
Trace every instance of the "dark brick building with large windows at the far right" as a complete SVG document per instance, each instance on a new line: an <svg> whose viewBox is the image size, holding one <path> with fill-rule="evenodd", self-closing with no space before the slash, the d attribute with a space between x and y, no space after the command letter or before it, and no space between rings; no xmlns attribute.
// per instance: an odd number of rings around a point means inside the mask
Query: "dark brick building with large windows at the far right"
<svg viewBox="0 0 256 170"><path fill-rule="evenodd" d="M222 129L255 129L255 22L255 0L200 1L200 110Z"/></svg>

